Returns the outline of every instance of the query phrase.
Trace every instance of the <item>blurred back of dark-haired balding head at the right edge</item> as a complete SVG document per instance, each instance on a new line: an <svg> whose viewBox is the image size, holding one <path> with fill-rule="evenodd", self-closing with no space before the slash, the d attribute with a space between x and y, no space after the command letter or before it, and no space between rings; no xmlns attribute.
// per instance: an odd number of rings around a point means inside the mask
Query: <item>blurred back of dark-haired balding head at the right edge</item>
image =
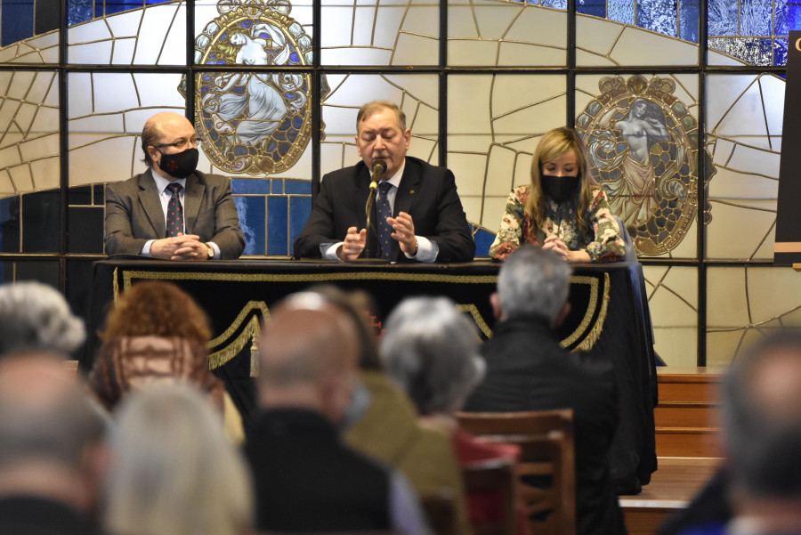
<svg viewBox="0 0 801 535"><path fill-rule="evenodd" d="M734 480L755 498L801 499L801 333L750 347L726 375L722 396Z"/></svg>

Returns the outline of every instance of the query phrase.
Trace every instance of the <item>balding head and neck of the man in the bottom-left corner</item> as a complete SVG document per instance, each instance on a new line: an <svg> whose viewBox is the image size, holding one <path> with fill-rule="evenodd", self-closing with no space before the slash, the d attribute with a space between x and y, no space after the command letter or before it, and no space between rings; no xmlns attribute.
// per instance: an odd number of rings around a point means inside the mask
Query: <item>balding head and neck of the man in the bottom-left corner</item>
<svg viewBox="0 0 801 535"><path fill-rule="evenodd" d="M63 361L47 353L0 360L0 494L49 496L93 506L92 452L104 422Z"/></svg>

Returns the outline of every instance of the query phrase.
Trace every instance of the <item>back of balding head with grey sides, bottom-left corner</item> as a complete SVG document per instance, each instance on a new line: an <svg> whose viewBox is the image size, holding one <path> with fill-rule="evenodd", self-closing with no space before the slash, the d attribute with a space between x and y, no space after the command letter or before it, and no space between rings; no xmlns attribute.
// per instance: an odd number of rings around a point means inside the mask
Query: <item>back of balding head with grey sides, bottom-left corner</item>
<svg viewBox="0 0 801 535"><path fill-rule="evenodd" d="M101 442L104 425L57 356L6 356L0 361L0 491L13 492L8 474L26 467L58 466L82 477L88 449Z"/></svg>

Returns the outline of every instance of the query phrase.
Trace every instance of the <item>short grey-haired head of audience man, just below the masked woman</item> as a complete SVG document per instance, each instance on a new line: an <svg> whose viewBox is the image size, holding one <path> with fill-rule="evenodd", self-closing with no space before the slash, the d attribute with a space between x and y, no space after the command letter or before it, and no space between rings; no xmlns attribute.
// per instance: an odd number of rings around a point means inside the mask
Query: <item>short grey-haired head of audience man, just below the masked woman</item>
<svg viewBox="0 0 801 535"><path fill-rule="evenodd" d="M498 272L498 300L507 318L538 316L554 325L570 289L570 264L541 247L522 246Z"/></svg>

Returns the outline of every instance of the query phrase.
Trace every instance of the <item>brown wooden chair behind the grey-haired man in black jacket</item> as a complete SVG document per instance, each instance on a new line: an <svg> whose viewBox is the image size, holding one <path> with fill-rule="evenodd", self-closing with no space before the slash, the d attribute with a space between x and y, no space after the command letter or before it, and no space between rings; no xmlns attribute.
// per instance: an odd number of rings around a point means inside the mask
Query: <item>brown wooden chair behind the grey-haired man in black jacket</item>
<svg viewBox="0 0 801 535"><path fill-rule="evenodd" d="M517 493L532 535L575 535L576 460L572 409L459 412L468 433L521 448Z"/></svg>

